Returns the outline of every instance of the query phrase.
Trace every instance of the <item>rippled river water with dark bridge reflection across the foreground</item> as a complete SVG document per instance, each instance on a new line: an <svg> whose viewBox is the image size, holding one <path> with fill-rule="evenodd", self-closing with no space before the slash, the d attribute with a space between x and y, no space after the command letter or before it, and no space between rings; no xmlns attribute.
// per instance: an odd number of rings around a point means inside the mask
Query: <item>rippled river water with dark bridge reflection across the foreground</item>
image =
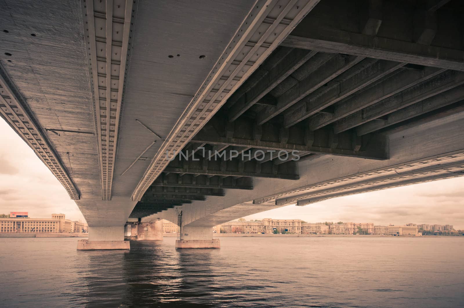
<svg viewBox="0 0 464 308"><path fill-rule="evenodd" d="M0 307L464 307L464 237L0 238Z"/></svg>

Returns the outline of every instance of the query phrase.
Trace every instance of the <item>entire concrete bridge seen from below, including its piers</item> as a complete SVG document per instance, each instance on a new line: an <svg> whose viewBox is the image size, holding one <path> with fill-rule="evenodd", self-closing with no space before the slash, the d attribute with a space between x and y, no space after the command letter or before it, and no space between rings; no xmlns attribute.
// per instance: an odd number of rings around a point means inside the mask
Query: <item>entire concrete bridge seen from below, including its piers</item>
<svg viewBox="0 0 464 308"><path fill-rule="evenodd" d="M273 208L464 175L458 0L5 0L0 115L89 224L178 248Z"/></svg>

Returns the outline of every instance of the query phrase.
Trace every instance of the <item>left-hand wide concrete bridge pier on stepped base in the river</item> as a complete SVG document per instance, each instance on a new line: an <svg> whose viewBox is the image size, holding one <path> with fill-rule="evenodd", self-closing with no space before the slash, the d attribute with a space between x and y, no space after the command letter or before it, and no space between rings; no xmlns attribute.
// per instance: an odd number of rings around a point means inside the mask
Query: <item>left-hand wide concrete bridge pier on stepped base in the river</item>
<svg viewBox="0 0 464 308"><path fill-rule="evenodd" d="M129 243L124 241L124 226L89 226L89 239L77 241L77 250L130 249Z"/></svg>

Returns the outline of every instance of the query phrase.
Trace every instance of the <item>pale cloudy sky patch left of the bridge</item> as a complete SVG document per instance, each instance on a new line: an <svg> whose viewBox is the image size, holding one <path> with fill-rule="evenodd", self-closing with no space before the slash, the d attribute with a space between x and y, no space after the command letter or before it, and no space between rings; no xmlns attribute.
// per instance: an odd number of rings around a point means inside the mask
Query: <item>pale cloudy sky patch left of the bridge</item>
<svg viewBox="0 0 464 308"><path fill-rule="evenodd" d="M76 203L31 148L0 120L0 213L29 212L30 217L49 218L61 212L81 219Z"/></svg>

